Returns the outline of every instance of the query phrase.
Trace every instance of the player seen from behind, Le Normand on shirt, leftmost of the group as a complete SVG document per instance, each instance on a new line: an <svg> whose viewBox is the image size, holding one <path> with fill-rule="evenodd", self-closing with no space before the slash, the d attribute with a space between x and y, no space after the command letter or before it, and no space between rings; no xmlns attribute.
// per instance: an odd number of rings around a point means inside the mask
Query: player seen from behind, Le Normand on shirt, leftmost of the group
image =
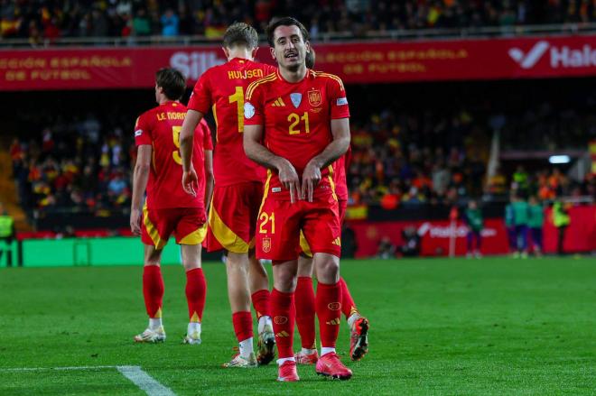
<svg viewBox="0 0 596 396"><path fill-rule="evenodd" d="M200 267L200 248L205 238L205 207L211 196L213 150L210 129L198 125L192 142L196 194L180 185L182 158L179 134L186 107L178 100L186 89L186 78L176 69L160 69L155 75L155 100L159 106L140 115L135 124L138 153L133 181L130 227L144 243L143 294L149 327L135 336L136 342L162 342L163 279L160 270L163 246L170 235L181 245L186 270L186 299L189 325L184 342L200 344L200 322L207 285ZM142 207L144 192L147 198ZM142 213L141 213L142 212Z"/></svg>

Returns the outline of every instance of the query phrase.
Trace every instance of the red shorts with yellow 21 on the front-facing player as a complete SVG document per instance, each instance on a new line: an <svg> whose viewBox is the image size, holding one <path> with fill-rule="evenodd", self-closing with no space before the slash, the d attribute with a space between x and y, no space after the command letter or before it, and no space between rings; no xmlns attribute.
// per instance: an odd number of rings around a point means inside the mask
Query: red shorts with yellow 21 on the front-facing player
<svg viewBox="0 0 596 396"><path fill-rule="evenodd" d="M330 193L314 202L265 198L256 224L256 258L290 261L301 252L300 235L314 253L341 255L338 201Z"/></svg>

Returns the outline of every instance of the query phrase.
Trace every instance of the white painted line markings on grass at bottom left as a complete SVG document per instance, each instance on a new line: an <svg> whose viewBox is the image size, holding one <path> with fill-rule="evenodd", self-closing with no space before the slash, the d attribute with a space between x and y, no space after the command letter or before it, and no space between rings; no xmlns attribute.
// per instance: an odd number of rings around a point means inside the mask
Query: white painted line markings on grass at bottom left
<svg viewBox="0 0 596 396"><path fill-rule="evenodd" d="M75 371L75 370L105 370L116 369L126 379L133 382L149 396L176 396L170 388L163 386L148 373L145 373L138 365L82 365L73 367L16 367L0 368L0 373L7 372L42 372L42 371Z"/></svg>

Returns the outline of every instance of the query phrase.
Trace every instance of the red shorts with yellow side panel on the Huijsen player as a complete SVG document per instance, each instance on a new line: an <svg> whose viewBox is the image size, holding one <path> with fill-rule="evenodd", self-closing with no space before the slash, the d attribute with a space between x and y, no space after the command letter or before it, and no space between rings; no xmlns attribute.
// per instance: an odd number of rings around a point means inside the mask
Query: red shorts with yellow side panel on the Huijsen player
<svg viewBox="0 0 596 396"><path fill-rule="evenodd" d="M260 182L216 186L205 240L207 250L247 253L255 247L256 216L262 200L263 184Z"/></svg>

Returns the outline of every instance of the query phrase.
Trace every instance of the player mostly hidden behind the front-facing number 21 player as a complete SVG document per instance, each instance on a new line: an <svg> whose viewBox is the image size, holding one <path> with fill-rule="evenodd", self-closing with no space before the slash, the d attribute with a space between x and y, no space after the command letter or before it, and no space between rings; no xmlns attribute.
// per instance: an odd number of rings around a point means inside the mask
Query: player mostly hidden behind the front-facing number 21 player
<svg viewBox="0 0 596 396"><path fill-rule="evenodd" d="M314 68L315 53L311 51L306 54L306 67ZM351 150L348 149L345 155L341 156L333 164L333 180L335 181L335 193L340 202L340 222L343 224L348 207L348 183L346 180L346 169L349 166ZM312 253L310 246L300 235L301 254L298 258L298 280L294 300L300 301L295 304L296 327L300 334L302 349L294 354L297 364L316 364L319 354L315 344L314 316L315 297L312 288ZM368 319L360 315L356 303L349 292L348 284L340 277L341 286L341 311L349 324L349 356L352 360L358 361L368 352Z"/></svg>

